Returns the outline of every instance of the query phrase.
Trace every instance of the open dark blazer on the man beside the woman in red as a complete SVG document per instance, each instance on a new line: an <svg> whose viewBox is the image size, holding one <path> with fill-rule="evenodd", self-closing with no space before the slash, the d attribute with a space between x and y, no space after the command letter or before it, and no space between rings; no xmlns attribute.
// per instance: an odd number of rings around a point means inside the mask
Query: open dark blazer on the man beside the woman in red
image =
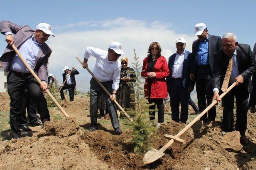
<svg viewBox="0 0 256 170"><path fill-rule="evenodd" d="M172 70L173 70L175 58L176 58L176 53L171 55L168 60L168 68L170 70L170 76L166 78L168 92L170 92L171 85L172 85ZM190 80L189 78L191 59L192 59L192 53L190 53L190 51L185 50L183 70L182 70L182 84L185 89L188 89L189 87L194 89L194 85L195 85L195 82Z"/></svg>

